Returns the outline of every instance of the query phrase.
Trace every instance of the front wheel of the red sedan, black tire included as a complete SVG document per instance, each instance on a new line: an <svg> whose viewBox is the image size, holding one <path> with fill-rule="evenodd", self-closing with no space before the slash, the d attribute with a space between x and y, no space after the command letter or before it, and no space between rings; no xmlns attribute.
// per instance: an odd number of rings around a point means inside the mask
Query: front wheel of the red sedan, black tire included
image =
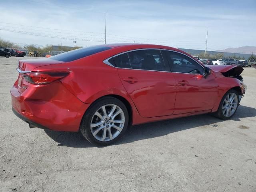
<svg viewBox="0 0 256 192"><path fill-rule="evenodd" d="M227 97L228 96L231 96L233 95L234 96L234 102L232 104L232 102L229 102L230 103L227 103L226 100L227 100ZM236 102L236 105L234 104ZM226 110L224 109L225 106L228 105L230 107L226 107ZM233 106L233 107L232 107ZM219 119L222 119L222 120L226 120L226 119L230 119L232 118L232 116L236 113L236 110L239 106L239 96L238 96L238 92L234 89L231 89L229 90L228 92L226 92L226 94L223 96L221 102L220 102L220 105L219 105L219 108L217 110L217 112L215 113L215 116ZM234 108L235 107L235 108ZM230 109L230 110L229 110ZM228 110L228 111L227 111ZM230 113L231 112L231 113ZM228 113L230 113L231 115L229 115Z"/></svg>

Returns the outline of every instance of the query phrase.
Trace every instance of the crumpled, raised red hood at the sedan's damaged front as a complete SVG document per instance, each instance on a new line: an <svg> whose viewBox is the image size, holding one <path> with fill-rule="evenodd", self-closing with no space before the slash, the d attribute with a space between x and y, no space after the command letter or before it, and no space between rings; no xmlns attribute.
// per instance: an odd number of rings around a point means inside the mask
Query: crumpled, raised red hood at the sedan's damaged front
<svg viewBox="0 0 256 192"><path fill-rule="evenodd" d="M209 65L208 67L224 76L239 76L244 70L242 66L237 65Z"/></svg>

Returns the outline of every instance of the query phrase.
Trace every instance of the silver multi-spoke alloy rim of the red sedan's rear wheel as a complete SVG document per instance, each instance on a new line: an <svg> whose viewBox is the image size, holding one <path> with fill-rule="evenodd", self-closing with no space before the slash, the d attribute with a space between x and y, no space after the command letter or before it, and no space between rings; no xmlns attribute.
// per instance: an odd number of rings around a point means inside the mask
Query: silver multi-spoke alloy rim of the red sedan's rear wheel
<svg viewBox="0 0 256 192"><path fill-rule="evenodd" d="M107 142L116 138L124 128L123 110L115 104L106 104L94 113L90 129L94 138Z"/></svg>

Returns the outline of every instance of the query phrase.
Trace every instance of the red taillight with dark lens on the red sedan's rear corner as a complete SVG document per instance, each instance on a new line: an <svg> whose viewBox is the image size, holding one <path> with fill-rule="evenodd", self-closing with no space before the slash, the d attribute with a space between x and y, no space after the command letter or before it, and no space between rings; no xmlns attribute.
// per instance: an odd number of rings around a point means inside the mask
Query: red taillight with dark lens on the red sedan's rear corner
<svg viewBox="0 0 256 192"><path fill-rule="evenodd" d="M26 82L41 85L48 84L67 76L69 72L30 72L24 74Z"/></svg>

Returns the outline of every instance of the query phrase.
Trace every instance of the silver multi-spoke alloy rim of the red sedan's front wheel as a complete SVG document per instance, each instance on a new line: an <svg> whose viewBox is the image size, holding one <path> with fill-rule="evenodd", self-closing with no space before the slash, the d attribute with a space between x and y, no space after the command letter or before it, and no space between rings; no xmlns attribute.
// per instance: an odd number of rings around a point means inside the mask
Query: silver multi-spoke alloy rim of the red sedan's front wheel
<svg viewBox="0 0 256 192"><path fill-rule="evenodd" d="M224 99L222 113L225 117L230 117L236 112L238 106L238 97L235 93L230 93Z"/></svg>

